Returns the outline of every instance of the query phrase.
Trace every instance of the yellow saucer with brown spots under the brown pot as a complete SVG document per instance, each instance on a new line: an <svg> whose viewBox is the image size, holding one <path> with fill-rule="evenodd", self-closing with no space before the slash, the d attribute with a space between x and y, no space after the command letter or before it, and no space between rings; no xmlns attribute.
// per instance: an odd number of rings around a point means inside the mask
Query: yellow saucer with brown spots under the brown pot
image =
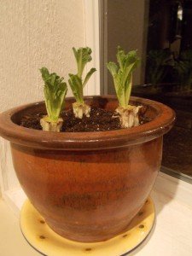
<svg viewBox="0 0 192 256"><path fill-rule="evenodd" d="M131 252L148 236L154 215L154 203L148 198L124 233L108 241L81 243L57 235L27 200L20 212L20 228L26 241L43 255L120 256Z"/></svg>

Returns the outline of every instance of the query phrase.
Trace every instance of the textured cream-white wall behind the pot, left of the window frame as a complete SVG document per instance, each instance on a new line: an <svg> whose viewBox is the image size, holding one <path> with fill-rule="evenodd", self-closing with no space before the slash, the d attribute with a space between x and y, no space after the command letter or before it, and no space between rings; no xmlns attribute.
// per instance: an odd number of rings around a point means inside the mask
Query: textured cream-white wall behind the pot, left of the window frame
<svg viewBox="0 0 192 256"><path fill-rule="evenodd" d="M39 67L67 78L72 47L85 44L83 0L0 1L0 112L43 99ZM0 138L0 185L18 186L9 143ZM2 169L2 172L1 172Z"/></svg>

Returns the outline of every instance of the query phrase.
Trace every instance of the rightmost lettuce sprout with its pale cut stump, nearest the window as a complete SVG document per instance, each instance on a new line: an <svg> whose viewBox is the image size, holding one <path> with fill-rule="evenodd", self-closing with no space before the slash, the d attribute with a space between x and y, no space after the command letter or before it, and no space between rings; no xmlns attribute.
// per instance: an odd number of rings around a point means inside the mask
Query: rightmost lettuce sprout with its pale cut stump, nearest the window
<svg viewBox="0 0 192 256"><path fill-rule="evenodd" d="M119 101L119 119L122 128L128 128L138 125L138 111L141 106L129 105L132 87L132 73L138 67L140 62L137 56L137 50L131 50L127 54L118 47L117 52L118 64L108 62L107 67L113 76L114 88Z"/></svg>

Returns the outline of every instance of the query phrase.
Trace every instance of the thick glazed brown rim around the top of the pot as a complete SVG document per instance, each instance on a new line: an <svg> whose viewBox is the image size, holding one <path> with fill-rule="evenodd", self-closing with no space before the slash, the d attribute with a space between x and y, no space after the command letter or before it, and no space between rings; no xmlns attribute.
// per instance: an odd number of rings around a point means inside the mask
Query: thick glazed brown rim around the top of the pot
<svg viewBox="0 0 192 256"><path fill-rule="evenodd" d="M72 97L68 97L72 100ZM84 99L116 99L116 96L85 96ZM33 102L11 108L0 114L0 135L11 143L30 148L62 150L95 150L106 148L124 148L129 145L145 143L168 132L174 123L175 112L160 102L140 97L131 97L131 101L147 105L157 111L157 117L146 124L128 129L90 132L51 132L39 131L16 125L12 121L15 113L32 108L43 102Z"/></svg>

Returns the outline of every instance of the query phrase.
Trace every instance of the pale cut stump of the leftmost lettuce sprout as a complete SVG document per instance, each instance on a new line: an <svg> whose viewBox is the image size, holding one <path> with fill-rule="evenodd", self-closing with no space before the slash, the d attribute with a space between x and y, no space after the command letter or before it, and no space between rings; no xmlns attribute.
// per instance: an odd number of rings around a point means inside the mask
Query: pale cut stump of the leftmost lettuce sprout
<svg viewBox="0 0 192 256"><path fill-rule="evenodd" d="M44 116L44 118L40 119L40 124L43 128L43 131L61 131L61 127L63 124L63 119L57 119L57 121L50 121L48 116Z"/></svg>

